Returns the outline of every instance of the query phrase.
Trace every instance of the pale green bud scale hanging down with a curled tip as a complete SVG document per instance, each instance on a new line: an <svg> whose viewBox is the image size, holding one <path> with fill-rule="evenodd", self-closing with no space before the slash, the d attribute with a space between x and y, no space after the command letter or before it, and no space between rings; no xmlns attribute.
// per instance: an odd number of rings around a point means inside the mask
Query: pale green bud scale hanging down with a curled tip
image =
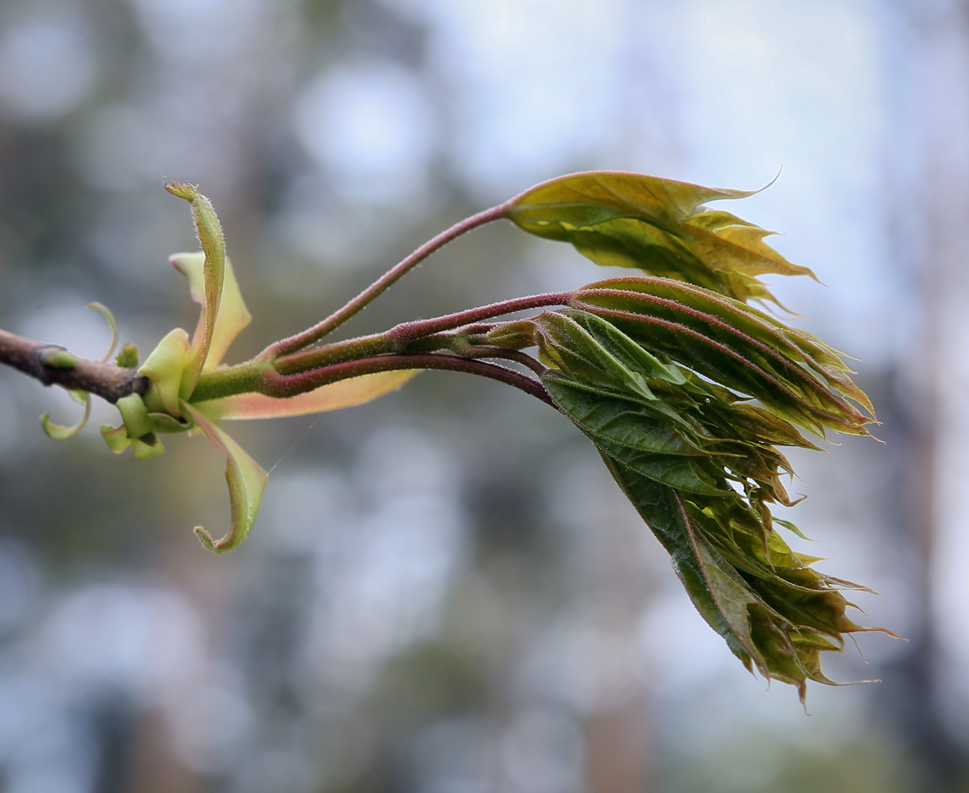
<svg viewBox="0 0 969 793"><path fill-rule="evenodd" d="M238 443L205 417L203 412L187 402L182 403L182 411L195 421L209 442L228 456L226 482L229 484L231 504L229 530L218 540L213 539L202 526L197 526L195 533L206 548L216 553L231 551L242 543L256 521L269 475Z"/></svg>

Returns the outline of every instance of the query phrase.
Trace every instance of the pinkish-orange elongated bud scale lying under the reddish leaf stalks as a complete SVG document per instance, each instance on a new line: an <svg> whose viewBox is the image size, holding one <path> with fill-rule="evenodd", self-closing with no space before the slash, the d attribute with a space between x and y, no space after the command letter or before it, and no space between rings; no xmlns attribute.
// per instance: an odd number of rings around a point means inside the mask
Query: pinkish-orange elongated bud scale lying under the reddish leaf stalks
<svg viewBox="0 0 969 793"><path fill-rule="evenodd" d="M377 372L328 385L294 397L276 399L255 391L195 403L212 420L223 418L280 418L352 408L396 390L420 370Z"/></svg>

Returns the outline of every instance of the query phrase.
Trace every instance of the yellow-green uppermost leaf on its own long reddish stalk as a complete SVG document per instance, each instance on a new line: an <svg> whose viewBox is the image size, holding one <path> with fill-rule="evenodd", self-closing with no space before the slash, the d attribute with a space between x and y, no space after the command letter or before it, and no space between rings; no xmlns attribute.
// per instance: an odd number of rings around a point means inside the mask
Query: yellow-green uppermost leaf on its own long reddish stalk
<svg viewBox="0 0 969 793"><path fill-rule="evenodd" d="M756 192L592 171L532 188L514 200L507 217L537 236L571 242L598 264L637 267L738 300L776 302L756 276L813 273L766 245L771 231L702 206Z"/></svg>

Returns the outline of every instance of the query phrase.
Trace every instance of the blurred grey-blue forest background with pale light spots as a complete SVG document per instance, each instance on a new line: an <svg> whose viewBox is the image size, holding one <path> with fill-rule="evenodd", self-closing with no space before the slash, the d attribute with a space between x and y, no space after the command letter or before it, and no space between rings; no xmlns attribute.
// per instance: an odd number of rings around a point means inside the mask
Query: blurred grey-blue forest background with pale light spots
<svg viewBox="0 0 969 793"><path fill-rule="evenodd" d="M268 470L238 551L222 457L135 463L0 371L3 793L969 790L969 6L957 0L2 0L0 327L100 358L197 308L165 179L199 182L255 317L242 360L424 239L572 170L728 207L859 358L870 439L792 455L797 548L860 595L838 681L747 674L592 447L453 373L227 425ZM609 273L493 225L346 329ZM342 332L342 331L341 331Z"/></svg>

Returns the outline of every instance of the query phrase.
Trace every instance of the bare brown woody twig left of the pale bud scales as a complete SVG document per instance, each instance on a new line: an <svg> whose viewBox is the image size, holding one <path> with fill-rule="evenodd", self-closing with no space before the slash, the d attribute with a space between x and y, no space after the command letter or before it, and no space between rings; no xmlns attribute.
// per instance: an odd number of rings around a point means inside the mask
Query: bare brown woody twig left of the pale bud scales
<svg viewBox="0 0 969 793"><path fill-rule="evenodd" d="M123 369L86 358L75 358L73 365L64 365L63 362L52 365L49 353L63 350L65 348L60 345L35 342L0 330L0 363L13 366L45 385L56 384L89 391L114 404L129 394L143 396L151 384L134 369Z"/></svg>

